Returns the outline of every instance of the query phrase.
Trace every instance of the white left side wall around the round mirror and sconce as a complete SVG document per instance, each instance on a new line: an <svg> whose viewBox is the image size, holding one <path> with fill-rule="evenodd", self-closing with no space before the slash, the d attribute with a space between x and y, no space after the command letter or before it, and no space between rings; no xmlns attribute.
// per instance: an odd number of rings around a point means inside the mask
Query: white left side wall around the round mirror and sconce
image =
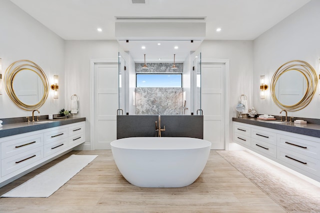
<svg viewBox="0 0 320 213"><path fill-rule="evenodd" d="M0 6L0 58L3 75L11 63L21 59L31 60L39 65L49 84L52 83L50 79L53 75L59 75L60 98L53 100L50 92L39 111L40 115L57 114L64 107L63 39L9 0L1 0ZM0 109L0 118L31 116L30 111L18 108L9 99L4 82Z"/></svg>

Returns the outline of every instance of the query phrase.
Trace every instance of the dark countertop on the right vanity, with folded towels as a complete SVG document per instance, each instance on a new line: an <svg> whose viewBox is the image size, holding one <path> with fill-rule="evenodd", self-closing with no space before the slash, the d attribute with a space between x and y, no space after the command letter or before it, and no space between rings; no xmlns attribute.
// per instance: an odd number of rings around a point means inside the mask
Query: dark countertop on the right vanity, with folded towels
<svg viewBox="0 0 320 213"><path fill-rule="evenodd" d="M319 124L295 124L293 122L272 123L272 121L279 120L268 121L258 120L256 118L232 118L232 121L320 138Z"/></svg>

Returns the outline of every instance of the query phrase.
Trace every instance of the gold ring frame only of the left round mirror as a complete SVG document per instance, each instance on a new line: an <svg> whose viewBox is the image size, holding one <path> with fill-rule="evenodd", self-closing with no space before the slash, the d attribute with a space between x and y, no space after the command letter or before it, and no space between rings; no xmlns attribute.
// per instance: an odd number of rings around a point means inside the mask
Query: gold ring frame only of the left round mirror
<svg viewBox="0 0 320 213"><path fill-rule="evenodd" d="M28 105L21 102L14 92L13 81L16 74L19 73L19 71L21 70L30 70L35 72L42 81L43 96L41 100L36 104ZM39 67L36 63L30 60L18 60L10 64L10 66L5 70L4 80L5 80L5 90L9 98L13 101L13 103L16 106L18 106L23 110L32 111L34 109L40 108L44 104L46 98L48 97L48 94L49 94L48 79L45 73L43 72L43 70L41 69L41 67ZM32 82L29 82L29 83L32 83Z"/></svg>

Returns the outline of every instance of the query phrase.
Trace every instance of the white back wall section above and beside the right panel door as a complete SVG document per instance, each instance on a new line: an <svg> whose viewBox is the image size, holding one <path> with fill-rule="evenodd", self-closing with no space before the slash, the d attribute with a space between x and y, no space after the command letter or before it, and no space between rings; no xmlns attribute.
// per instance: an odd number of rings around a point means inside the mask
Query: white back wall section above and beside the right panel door
<svg viewBox="0 0 320 213"><path fill-rule="evenodd" d="M201 44L202 59L229 59L229 141L232 141L232 117L240 95L247 96L248 107L252 107L253 85L253 41L204 40Z"/></svg>

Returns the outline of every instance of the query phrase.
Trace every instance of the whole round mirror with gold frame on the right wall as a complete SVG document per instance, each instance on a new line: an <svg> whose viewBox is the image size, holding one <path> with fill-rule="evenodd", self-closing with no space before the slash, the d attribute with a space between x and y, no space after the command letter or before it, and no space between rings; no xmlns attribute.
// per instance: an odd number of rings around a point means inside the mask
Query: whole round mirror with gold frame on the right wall
<svg viewBox="0 0 320 213"><path fill-rule="evenodd" d="M297 111L310 103L316 85L316 72L310 64L300 60L288 61L272 76L271 96L279 108Z"/></svg>

